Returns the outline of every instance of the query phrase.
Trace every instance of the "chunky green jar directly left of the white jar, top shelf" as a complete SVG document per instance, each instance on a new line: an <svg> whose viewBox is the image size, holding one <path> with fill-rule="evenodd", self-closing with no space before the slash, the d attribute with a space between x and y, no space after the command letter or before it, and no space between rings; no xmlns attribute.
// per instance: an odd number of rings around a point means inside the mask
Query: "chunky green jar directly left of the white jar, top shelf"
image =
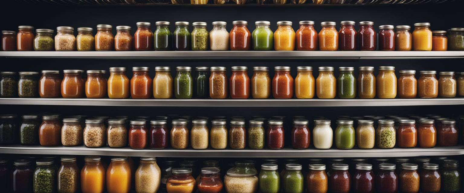
<svg viewBox="0 0 464 193"><path fill-rule="evenodd" d="M193 22L192 50L207 51L209 49L209 32L206 22Z"/></svg>

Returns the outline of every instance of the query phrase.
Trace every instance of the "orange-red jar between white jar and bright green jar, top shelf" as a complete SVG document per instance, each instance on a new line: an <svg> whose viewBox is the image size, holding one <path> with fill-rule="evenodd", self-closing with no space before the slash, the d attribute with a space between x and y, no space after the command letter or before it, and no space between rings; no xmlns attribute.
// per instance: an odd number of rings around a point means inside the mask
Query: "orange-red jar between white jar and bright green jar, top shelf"
<svg viewBox="0 0 464 193"><path fill-rule="evenodd" d="M246 27L247 21L233 21L232 30L229 33L232 51L251 50L251 33Z"/></svg>

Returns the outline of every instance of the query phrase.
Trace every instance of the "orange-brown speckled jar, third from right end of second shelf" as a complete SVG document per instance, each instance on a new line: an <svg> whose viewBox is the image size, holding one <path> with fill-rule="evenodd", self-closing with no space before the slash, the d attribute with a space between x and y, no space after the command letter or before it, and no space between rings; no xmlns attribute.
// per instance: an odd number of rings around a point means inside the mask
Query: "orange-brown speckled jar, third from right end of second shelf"
<svg viewBox="0 0 464 193"><path fill-rule="evenodd" d="M437 71L420 71L417 81L417 96L422 99L432 99L438 97Z"/></svg>

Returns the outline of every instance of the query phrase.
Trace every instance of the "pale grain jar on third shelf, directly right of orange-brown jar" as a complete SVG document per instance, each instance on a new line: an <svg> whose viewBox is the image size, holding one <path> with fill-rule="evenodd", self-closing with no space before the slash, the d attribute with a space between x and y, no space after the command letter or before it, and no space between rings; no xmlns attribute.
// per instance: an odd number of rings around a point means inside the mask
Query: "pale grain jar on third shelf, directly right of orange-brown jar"
<svg viewBox="0 0 464 193"><path fill-rule="evenodd" d="M82 144L82 126L79 118L64 118L61 128L61 143L63 146Z"/></svg>

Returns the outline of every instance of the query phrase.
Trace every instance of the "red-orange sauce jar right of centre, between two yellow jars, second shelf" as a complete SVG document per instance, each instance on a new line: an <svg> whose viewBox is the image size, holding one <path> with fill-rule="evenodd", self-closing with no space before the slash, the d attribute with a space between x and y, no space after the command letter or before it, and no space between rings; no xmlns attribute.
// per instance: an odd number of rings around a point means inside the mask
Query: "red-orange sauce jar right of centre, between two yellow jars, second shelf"
<svg viewBox="0 0 464 193"><path fill-rule="evenodd" d="M274 99L291 99L293 97L293 78L290 75L290 67L276 66L272 79L272 96Z"/></svg>

